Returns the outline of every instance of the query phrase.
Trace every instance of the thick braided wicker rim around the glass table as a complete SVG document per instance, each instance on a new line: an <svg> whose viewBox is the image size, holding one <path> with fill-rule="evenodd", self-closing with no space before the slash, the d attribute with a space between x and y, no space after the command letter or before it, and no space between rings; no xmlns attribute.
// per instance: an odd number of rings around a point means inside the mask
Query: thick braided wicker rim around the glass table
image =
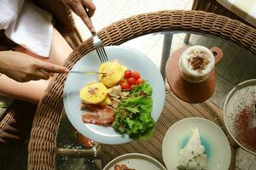
<svg viewBox="0 0 256 170"><path fill-rule="evenodd" d="M256 30L237 20L202 11L178 10L139 14L102 29L98 32L98 37L104 45L119 45L149 33L173 30L197 31L224 37L256 54ZM71 69L84 54L93 49L92 38L89 38L73 51L65 66ZM55 168L55 138L63 109L62 93L66 77L67 75L56 76L38 105L28 147L29 169Z"/></svg>

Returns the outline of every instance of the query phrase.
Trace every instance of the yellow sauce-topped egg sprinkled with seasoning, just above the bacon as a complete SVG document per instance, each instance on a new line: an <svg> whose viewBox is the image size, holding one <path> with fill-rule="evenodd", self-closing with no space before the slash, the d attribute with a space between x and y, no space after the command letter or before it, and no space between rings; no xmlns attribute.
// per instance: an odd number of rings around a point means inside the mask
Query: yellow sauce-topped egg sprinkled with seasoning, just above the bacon
<svg viewBox="0 0 256 170"><path fill-rule="evenodd" d="M102 82L90 82L79 92L79 97L86 104L99 104L108 95L108 88Z"/></svg>

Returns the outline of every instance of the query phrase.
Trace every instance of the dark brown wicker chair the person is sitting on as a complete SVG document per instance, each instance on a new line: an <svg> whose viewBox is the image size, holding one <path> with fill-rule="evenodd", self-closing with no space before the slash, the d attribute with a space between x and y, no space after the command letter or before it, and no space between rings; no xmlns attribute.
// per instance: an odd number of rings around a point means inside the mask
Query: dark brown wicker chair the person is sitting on
<svg viewBox="0 0 256 170"><path fill-rule="evenodd" d="M71 11L61 1L35 0L35 3L53 14L55 28L61 32L61 35L65 37L73 49L77 48L82 42L82 38L74 26ZM11 49L9 46L11 45L6 45L2 42L0 50L9 50ZM26 137L30 134L36 109L37 105L20 100L15 100L9 106L0 122L0 146L3 144L16 145L24 143Z"/></svg>

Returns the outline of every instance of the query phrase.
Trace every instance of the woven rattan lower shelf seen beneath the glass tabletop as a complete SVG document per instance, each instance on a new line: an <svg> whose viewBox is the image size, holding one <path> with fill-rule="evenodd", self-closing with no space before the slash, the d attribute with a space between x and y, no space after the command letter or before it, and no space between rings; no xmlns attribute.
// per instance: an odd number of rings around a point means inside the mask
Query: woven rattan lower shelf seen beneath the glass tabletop
<svg viewBox="0 0 256 170"><path fill-rule="evenodd" d="M147 141L133 141L128 144L101 144L102 164L106 165L113 158L125 153L146 154L148 156L153 156L164 164L162 158L162 142L166 131L173 123L191 116L203 117L215 122L224 130L224 133L227 134L229 140L232 141L224 128L223 122L218 117L218 114L217 110L212 108L212 105L207 102L190 105L183 102L181 99L177 99L177 97L168 90L166 93L164 110L154 128L154 136ZM170 152L172 152L172 150L170 150Z"/></svg>

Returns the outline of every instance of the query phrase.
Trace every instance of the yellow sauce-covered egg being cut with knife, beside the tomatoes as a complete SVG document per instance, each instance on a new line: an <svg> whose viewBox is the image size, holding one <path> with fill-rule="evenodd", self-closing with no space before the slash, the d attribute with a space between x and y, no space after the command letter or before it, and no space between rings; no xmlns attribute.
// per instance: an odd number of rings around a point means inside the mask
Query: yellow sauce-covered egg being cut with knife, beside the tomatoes
<svg viewBox="0 0 256 170"><path fill-rule="evenodd" d="M100 82L107 87L115 86L124 77L124 69L118 62L103 63L99 72L107 73L107 75L99 75Z"/></svg>

